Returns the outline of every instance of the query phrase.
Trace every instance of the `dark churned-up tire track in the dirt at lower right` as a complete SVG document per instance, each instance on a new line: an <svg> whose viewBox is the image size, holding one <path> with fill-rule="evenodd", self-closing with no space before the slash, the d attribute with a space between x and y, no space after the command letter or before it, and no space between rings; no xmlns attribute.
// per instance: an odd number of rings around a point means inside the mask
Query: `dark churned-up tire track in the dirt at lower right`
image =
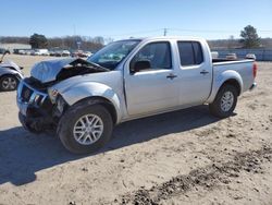
<svg viewBox="0 0 272 205"><path fill-rule="evenodd" d="M181 174L172 178L162 184L147 190L144 186L133 193L121 196L119 204L157 205L162 200L169 200L178 194L185 194L195 186L202 186L212 190L220 183L227 184L230 178L239 177L240 171L263 173L261 164L272 161L272 146L263 145L258 150L237 153L227 162L212 164L205 168L190 171L188 174Z"/></svg>

